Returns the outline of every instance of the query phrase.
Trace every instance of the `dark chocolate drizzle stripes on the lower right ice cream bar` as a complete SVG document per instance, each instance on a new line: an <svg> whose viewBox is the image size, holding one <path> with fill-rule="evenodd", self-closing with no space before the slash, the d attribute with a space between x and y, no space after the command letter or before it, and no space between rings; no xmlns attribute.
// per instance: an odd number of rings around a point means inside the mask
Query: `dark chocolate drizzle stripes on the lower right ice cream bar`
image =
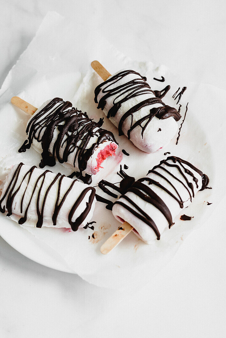
<svg viewBox="0 0 226 338"><path fill-rule="evenodd" d="M170 163L169 161L172 161ZM168 167L175 167L178 170L177 177L174 176L169 170L167 170L165 167L162 165L168 166ZM185 167L186 165L186 167ZM134 182L132 185L130 184L127 186L126 192L132 192L135 195L139 196L142 198L144 201L152 204L155 206L167 219L169 223L169 228L174 224L172 221L172 215L170 213L170 210L164 203L164 201L151 189L151 186L157 186L164 190L167 194L169 194L174 200L176 200L179 203L180 208L184 207L184 201L182 200L178 190L174 185L170 182L170 180L164 175L164 171L169 174L172 178L176 179L178 182L180 182L185 189L188 191L188 194L190 196L190 200L192 200L192 197L194 197L194 184L198 187L198 178L189 170L187 167L190 167L193 171L197 172L202 178L205 177L206 179L202 179L202 187L200 190L203 190L206 188L206 185L208 184L208 177L202 173L199 169L194 167L192 164L190 164L187 161L184 161L176 156L169 156L166 160L162 160L159 165L153 167L152 170L149 170L149 173L154 173L155 175L163 178L174 190L174 193L169 191L167 188L162 186L159 182L156 180L150 178L150 177L144 177L141 179L138 179L136 182ZM161 169L161 173L157 171L156 169ZM188 174L192 177L192 180L194 183L189 182L187 176L185 174ZM181 176L181 179L178 178L178 176ZM146 182L144 184L143 182ZM185 182L185 183L184 183ZM147 185L148 184L148 185ZM150 187L149 187L150 186ZM122 199L125 199L127 202L130 203L131 207L128 206L126 203L124 203ZM149 225L153 231L156 233L157 239L160 239L160 233L159 230L155 224L155 222L151 219L149 215L147 215L144 210L142 210L135 202L133 202L127 195L121 195L119 200L117 200L114 204L120 204L128 210L131 214L142 220L144 223Z"/></svg>

